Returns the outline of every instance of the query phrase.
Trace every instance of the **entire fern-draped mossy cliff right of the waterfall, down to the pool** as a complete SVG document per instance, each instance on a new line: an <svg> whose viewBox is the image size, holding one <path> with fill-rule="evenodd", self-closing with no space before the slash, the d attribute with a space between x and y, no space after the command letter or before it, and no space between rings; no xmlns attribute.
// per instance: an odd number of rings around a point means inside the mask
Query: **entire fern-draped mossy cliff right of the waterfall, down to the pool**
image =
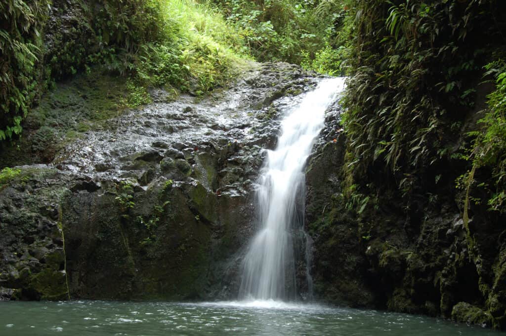
<svg viewBox="0 0 506 336"><path fill-rule="evenodd" d="M343 131L308 172L319 297L504 328L504 5L348 2Z"/></svg>

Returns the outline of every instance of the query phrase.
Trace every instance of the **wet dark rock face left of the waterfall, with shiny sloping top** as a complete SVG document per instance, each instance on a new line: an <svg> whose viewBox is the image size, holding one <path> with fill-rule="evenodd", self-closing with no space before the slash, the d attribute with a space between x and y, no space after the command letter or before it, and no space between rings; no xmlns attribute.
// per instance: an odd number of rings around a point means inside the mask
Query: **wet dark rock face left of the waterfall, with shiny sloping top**
<svg viewBox="0 0 506 336"><path fill-rule="evenodd" d="M212 97L156 102L154 90L155 103L52 146L49 164L20 167L0 187L0 297L235 297L263 149L316 82L254 64Z"/></svg>

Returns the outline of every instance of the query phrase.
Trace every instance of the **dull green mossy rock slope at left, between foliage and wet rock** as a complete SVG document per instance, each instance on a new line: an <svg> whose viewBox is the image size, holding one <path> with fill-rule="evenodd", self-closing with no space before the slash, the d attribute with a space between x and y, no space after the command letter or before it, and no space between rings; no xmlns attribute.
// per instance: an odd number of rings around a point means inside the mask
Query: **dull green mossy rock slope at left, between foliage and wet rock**
<svg viewBox="0 0 506 336"><path fill-rule="evenodd" d="M98 67L58 83L26 116L17 146L0 144L0 167L52 162L82 133L110 128L107 120L125 111L125 91L124 78Z"/></svg>

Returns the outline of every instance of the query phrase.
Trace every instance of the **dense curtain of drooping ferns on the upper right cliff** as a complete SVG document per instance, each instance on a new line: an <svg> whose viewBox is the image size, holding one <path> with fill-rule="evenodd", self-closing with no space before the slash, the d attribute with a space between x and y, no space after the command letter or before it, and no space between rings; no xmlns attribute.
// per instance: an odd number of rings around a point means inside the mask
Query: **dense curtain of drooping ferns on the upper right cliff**
<svg viewBox="0 0 506 336"><path fill-rule="evenodd" d="M474 109L475 78L489 61L485 51L500 45L501 27L489 24L500 5L351 0L349 6L349 185L382 174L383 187L409 194L423 183L424 171L437 172L456 154L451 134L461 132Z"/></svg>

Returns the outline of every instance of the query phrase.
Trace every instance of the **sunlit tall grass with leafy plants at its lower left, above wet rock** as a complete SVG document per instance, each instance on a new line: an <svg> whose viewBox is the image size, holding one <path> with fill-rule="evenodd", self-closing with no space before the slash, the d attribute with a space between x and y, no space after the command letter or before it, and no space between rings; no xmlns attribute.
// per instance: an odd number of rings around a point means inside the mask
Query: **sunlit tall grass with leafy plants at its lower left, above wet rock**
<svg viewBox="0 0 506 336"><path fill-rule="evenodd" d="M231 77L248 59L237 28L206 4L192 0L160 0L163 41L146 48L137 69L142 85L171 85L203 94Z"/></svg>

